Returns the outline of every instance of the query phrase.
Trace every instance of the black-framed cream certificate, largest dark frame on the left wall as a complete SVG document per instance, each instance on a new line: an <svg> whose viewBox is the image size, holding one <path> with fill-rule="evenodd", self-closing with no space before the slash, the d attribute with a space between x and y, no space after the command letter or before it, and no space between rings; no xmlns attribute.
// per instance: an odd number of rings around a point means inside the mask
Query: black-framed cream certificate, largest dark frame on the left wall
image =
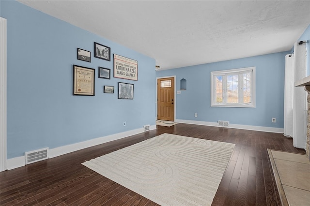
<svg viewBox="0 0 310 206"><path fill-rule="evenodd" d="M73 95L95 96L95 70L73 65Z"/></svg>

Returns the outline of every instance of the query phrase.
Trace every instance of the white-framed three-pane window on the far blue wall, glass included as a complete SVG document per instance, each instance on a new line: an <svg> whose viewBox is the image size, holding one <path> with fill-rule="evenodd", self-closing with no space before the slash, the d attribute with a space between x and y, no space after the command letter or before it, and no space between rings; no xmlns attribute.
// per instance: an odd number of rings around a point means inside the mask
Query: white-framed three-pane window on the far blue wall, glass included
<svg viewBox="0 0 310 206"><path fill-rule="evenodd" d="M255 107L255 67L211 72L211 106Z"/></svg>

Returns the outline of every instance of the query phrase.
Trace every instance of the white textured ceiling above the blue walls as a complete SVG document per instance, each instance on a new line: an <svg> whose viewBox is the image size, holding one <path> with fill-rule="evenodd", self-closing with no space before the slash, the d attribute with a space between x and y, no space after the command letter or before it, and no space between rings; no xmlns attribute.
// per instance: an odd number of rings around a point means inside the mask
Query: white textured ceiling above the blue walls
<svg viewBox="0 0 310 206"><path fill-rule="evenodd" d="M18 1L152 57L160 70L288 51L310 24L309 0Z"/></svg>

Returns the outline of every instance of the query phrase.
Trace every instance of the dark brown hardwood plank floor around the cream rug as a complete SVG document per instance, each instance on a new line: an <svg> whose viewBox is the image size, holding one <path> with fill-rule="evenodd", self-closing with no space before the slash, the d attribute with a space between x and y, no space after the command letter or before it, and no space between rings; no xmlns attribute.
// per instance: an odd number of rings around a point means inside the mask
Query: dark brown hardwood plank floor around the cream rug
<svg viewBox="0 0 310 206"><path fill-rule="evenodd" d="M281 205L267 148L305 153L305 150L293 147L292 139L279 133L189 124L157 126L157 130L1 172L0 205L155 206L154 202L81 163L162 133L235 144L214 206Z"/></svg>

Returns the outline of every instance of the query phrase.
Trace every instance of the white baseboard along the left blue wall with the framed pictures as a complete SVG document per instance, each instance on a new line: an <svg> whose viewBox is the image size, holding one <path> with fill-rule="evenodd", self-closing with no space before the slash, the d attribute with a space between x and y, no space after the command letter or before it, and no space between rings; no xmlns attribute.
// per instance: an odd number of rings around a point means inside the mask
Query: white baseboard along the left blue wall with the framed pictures
<svg viewBox="0 0 310 206"><path fill-rule="evenodd" d="M156 125L150 126L150 130L155 130L155 129L156 129ZM77 151L80 149L85 149L87 147L93 147L96 145L100 145L100 144L107 143L110 141L122 139L122 138L125 138L128 136L131 136L131 135L142 133L142 132L144 132L144 128L139 128L139 129L130 130L130 131L126 131L126 132L116 133L116 134L112 134L112 135L104 136L104 137L98 137L95 139L75 143L72 145L66 145L66 146L62 146L62 147L52 148L52 149L49 149L49 151L48 151L48 156L49 156L48 158L58 157L60 155L68 154L70 152L74 152L74 151ZM8 159L6 161L6 163L7 163L7 170L12 170L12 169L15 169L17 167L25 166L26 165L25 164L25 156L20 156L20 157Z"/></svg>

